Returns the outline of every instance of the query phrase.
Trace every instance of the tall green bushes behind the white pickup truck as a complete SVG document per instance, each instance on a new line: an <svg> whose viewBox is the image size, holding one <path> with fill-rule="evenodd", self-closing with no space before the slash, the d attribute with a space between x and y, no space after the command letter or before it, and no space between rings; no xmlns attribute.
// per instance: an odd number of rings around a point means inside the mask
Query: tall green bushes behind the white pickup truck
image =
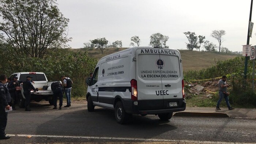
<svg viewBox="0 0 256 144"><path fill-rule="evenodd" d="M97 60L89 58L87 52L76 53L68 49L49 50L44 58L19 56L15 59L6 55L2 60L8 60L0 65L1 74L7 76L15 72L44 72L48 81L61 80L61 75L70 77L74 83L72 96L85 96L85 79L97 64Z"/></svg>

